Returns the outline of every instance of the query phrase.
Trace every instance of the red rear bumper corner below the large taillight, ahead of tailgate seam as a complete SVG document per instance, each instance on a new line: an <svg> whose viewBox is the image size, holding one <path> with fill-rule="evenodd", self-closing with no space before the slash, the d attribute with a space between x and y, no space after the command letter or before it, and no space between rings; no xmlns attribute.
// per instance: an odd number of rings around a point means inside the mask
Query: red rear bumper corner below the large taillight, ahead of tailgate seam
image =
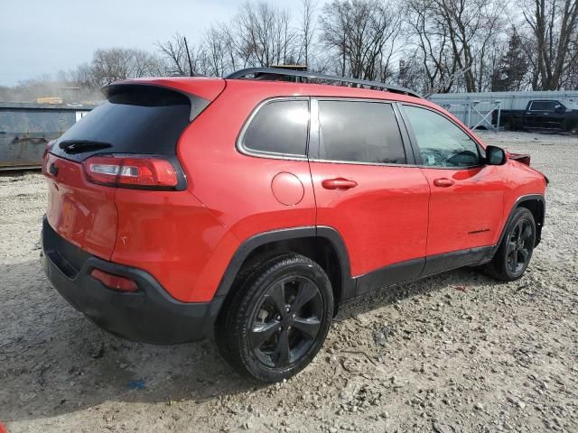
<svg viewBox="0 0 578 433"><path fill-rule="evenodd" d="M227 227L186 190L117 189L116 202L112 261L151 273L175 299L212 299L239 244Z"/></svg>

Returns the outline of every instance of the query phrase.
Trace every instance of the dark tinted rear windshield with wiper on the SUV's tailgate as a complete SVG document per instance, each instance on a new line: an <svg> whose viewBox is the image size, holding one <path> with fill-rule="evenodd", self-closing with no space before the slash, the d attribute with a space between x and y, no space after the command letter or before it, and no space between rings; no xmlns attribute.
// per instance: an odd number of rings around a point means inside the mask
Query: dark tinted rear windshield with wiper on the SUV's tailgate
<svg viewBox="0 0 578 433"><path fill-rule="evenodd" d="M191 100L181 93L125 86L74 124L51 152L79 161L95 153L172 155L190 116Z"/></svg>

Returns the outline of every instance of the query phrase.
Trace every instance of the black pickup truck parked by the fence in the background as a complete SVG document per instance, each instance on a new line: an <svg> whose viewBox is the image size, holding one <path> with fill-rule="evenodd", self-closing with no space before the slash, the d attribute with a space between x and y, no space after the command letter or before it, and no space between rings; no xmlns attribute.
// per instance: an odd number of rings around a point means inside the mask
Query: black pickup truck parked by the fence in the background
<svg viewBox="0 0 578 433"><path fill-rule="evenodd" d="M498 113L494 112L492 123L497 122ZM578 104L536 99L528 102L525 110L501 110L499 123L511 131L554 130L578 134Z"/></svg>

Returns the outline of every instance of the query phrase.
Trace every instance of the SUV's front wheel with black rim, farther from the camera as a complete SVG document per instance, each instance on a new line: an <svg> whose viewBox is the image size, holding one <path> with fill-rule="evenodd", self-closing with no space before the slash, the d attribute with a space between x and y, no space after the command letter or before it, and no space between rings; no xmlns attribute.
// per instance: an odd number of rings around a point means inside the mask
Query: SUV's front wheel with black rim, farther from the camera
<svg viewBox="0 0 578 433"><path fill-rule="evenodd" d="M518 207L486 272L501 281L515 281L526 272L536 243L536 222L526 207Z"/></svg>

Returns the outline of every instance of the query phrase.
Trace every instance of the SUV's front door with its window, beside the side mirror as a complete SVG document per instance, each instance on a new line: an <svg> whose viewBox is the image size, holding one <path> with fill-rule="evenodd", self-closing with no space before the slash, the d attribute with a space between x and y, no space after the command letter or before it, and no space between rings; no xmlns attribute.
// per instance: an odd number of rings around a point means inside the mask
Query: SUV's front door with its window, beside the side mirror
<svg viewBox="0 0 578 433"><path fill-rule="evenodd" d="M492 245L499 237L506 188L503 167L485 165L480 146L449 118L421 106L403 109L416 158L432 189L428 261L446 254L442 264L448 268L453 267L452 258L467 262L472 253L468 250Z"/></svg>

